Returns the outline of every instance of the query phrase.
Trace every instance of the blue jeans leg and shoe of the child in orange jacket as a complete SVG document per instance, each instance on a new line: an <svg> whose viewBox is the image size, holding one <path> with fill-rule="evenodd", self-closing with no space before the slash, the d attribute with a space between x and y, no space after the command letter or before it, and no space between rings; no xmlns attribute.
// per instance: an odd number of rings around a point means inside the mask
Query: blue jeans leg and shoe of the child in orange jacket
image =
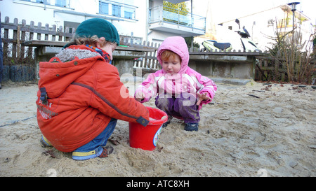
<svg viewBox="0 0 316 191"><path fill-rule="evenodd" d="M88 160L98 157L103 152L103 146L107 144L107 139L110 138L115 126L117 125L117 119L112 118L107 127L101 132L95 139L86 143L72 152L72 159L74 160Z"/></svg>

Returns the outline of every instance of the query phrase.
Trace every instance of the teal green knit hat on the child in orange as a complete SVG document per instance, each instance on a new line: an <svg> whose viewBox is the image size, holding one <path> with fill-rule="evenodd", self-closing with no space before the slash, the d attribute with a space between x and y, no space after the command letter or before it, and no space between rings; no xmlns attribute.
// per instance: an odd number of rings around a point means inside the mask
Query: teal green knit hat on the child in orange
<svg viewBox="0 0 316 191"><path fill-rule="evenodd" d="M117 28L111 22L100 18L93 18L85 20L79 24L75 37L98 36L98 38L104 37L105 41L117 43L119 45L119 33Z"/></svg>

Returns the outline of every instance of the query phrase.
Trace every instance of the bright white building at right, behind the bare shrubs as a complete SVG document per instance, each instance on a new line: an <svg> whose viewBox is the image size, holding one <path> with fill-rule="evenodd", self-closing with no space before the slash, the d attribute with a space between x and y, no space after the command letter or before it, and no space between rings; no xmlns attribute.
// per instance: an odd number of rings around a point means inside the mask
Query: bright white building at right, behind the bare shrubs
<svg viewBox="0 0 316 191"><path fill-rule="evenodd" d="M269 50L272 44L276 43L275 37L277 31L280 34L286 34L293 29L293 19L291 8L287 5L277 6L259 13L244 15L238 18L240 27L246 27L249 31L251 41L256 43L260 50ZM294 27L296 41L307 43L310 41L310 35L315 33L315 27L311 27L310 18L299 11L295 12ZM239 40L239 34L235 31L239 30L239 25L235 22L235 18L227 22L223 22L216 26L216 34L219 41L228 41L236 50L242 50ZM298 43L299 43L298 42ZM305 49L305 48L304 48Z"/></svg>

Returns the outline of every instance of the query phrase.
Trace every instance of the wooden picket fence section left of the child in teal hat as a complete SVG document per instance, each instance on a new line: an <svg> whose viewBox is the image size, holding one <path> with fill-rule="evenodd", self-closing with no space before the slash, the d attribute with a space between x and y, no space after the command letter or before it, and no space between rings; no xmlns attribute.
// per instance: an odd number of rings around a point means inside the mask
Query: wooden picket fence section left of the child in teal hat
<svg viewBox="0 0 316 191"><path fill-rule="evenodd" d="M4 22L1 22L1 33L2 29L4 81L20 82L35 79L34 47L23 46L22 43L25 41L69 41L72 38L72 34L67 32L69 29L63 32L62 26L42 26L41 22L35 25L33 21L27 24L26 20L19 23L17 18L11 23L9 17L5 17Z"/></svg>

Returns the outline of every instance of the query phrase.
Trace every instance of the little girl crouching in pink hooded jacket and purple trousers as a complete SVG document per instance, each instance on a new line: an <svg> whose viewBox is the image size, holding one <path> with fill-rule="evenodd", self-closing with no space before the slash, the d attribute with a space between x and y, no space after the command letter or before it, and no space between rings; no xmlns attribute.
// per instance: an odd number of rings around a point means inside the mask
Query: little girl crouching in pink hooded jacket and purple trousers
<svg viewBox="0 0 316 191"><path fill-rule="evenodd" d="M168 114L166 127L173 117L184 120L186 131L197 131L199 110L213 99L217 86L187 66L189 51L180 36L166 38L157 52L162 69L150 73L136 89L135 99L140 103L156 97L157 108Z"/></svg>

